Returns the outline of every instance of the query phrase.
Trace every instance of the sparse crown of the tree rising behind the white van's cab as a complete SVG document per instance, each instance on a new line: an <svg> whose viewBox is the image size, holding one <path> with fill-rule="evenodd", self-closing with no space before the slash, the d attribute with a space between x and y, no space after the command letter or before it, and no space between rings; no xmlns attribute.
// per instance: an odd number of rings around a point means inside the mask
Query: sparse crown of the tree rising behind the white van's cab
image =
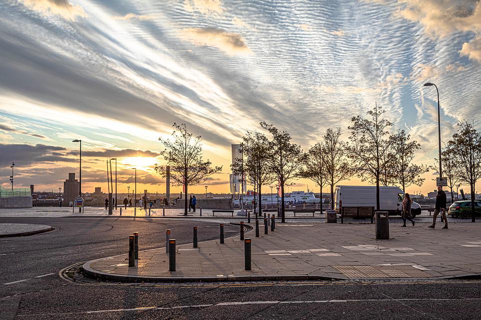
<svg viewBox="0 0 481 320"><path fill-rule="evenodd" d="M427 165L411 163L421 145L416 140L410 141L410 137L404 130L399 129L389 139L391 161L387 167L390 168L394 183L399 183L403 191L412 184L421 186L425 180L421 174L429 170Z"/></svg>

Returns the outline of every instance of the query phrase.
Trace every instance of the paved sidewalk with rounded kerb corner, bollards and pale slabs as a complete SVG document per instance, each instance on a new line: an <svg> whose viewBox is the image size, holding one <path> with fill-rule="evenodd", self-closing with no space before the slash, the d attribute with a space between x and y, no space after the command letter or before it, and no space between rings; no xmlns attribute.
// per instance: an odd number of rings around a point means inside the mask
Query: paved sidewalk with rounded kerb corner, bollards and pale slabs
<svg viewBox="0 0 481 320"><path fill-rule="evenodd" d="M244 270L239 236L177 246L176 271L168 271L165 248L84 264L93 276L116 281L219 281L267 279L446 278L481 275L481 225L451 223L450 229L390 225L389 240L375 239L373 224L277 223L276 231L252 239L252 271ZM202 230L199 228L199 232ZM173 234L173 237L174 234ZM163 243L159 243L163 246ZM142 242L139 243L140 250ZM125 239L128 251L128 239Z"/></svg>

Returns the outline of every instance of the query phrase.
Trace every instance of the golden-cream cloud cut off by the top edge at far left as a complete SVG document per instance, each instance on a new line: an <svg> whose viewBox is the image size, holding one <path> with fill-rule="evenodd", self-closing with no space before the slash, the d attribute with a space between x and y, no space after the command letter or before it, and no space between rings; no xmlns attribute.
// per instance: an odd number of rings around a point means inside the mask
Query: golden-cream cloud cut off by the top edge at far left
<svg viewBox="0 0 481 320"><path fill-rule="evenodd" d="M87 13L80 5L69 0L21 0L29 8L43 13L53 13L67 20L75 21L77 17L86 17Z"/></svg>

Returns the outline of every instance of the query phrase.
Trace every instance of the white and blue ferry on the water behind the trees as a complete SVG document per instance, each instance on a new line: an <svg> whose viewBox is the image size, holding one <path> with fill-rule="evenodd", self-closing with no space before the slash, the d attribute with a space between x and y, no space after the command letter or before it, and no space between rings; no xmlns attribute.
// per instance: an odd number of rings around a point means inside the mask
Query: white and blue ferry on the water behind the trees
<svg viewBox="0 0 481 320"><path fill-rule="evenodd" d="M252 204L254 203L254 194L256 194L256 201L259 201L259 195L254 193L254 191L247 191L247 193L243 196L242 201L244 204ZM279 200L278 200L279 199ZM312 191L292 191L292 192L285 192L284 193L284 203L286 204L302 204L302 203L320 203L320 198L316 198L314 195L314 192ZM262 194L261 198L261 203L262 204L276 204L277 201L279 203L282 203L282 197L278 197L276 193L267 193L267 194ZM240 199L234 199L233 200L234 204L239 204ZM324 203L324 199L322 201Z"/></svg>

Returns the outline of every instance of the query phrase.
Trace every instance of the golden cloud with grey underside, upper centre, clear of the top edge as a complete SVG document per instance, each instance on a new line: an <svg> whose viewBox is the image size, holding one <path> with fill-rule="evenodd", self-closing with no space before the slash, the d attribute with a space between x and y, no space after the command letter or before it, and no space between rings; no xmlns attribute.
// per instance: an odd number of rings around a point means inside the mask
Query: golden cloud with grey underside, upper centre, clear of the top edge
<svg viewBox="0 0 481 320"><path fill-rule="evenodd" d="M180 35L194 44L213 46L230 55L252 53L246 40L238 33L206 27L184 28L181 30Z"/></svg>

